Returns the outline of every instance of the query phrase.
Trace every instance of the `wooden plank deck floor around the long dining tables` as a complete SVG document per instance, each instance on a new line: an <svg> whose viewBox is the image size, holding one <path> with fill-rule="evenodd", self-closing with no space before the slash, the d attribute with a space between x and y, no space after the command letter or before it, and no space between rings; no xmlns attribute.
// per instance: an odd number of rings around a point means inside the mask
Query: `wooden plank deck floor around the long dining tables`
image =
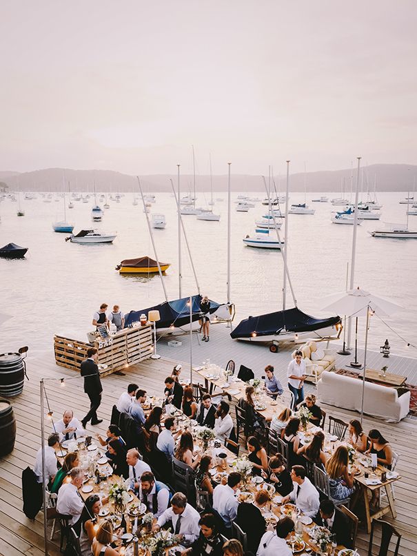
<svg viewBox="0 0 417 556"><path fill-rule="evenodd" d="M232 345L241 346L237 342ZM245 344L244 344L245 345ZM208 344L196 344L194 350L194 363L198 364L201 360L210 357L212 361L221 358L223 363L228 358L234 357L236 362L244 362L246 353L236 354L225 353L218 349L216 342L210 341ZM247 346L250 347L250 346ZM261 374L261 369L267 362L274 359L276 364L277 356L269 353L262 347L250 347L250 351L256 351L258 357L254 358L257 362L254 369L258 369L257 375ZM176 357L175 362L186 361L188 359L187 346L177 349L161 347L162 351L169 352L171 356L183 352L183 357ZM200 351L201 350L201 351ZM246 348L244 349L246 351ZM283 356L285 352L278 354ZM288 354L287 354L288 355ZM281 357L279 358L281 360ZM282 358L282 360L284 360ZM285 357L287 360L287 356ZM266 362L265 362L266 361ZM92 432L105 433L110 420L112 404L116 402L122 391L125 391L129 382L136 382L146 389L150 395L159 394L163 391L163 379L170 374L174 361L168 358L160 360L148 360L126 369L126 375L108 375L103 378L103 403L99 409L99 416L104 419L99 426L88 426ZM247 364L247 360L246 360ZM281 366L280 366L281 367ZM184 364L184 375L186 375L186 364ZM284 368L284 367L283 367ZM276 365L278 371L278 366ZM390 368L390 370L393 370ZM82 418L88 409L88 398L83 393L83 381L78 373L57 367L54 362L53 354L48 353L37 360L28 360L29 381L25 382L23 393L17 398L12 399L14 415L17 420L17 442L14 451L8 456L0 459L0 555L1 556L21 556L43 554L43 514L39 513L34 522L30 521L22 511L21 497L21 472L26 466L33 466L34 457L40 447L40 397L39 380L41 378L53 379L65 377L65 385L60 386L57 380L46 380L46 393L50 403L50 408L54 412L56 420L61 418L61 413L65 409L73 409L77 418ZM278 376L280 373L277 373ZM283 377L281 377L283 378ZM72 379L72 380L68 380ZM352 414L347 411L336 410L325 407L327 414L338 416L344 420L349 420ZM365 430L378 428L391 441L394 450L400 453L397 471L403 479L395 484L396 511L398 513L395 526L403 534L400 546L400 555L417 554L417 501L414 491L417 487L417 427L413 420L404 420L399 424L385 424L372 418L365 418ZM50 424L47 426L45 436L50 433ZM388 518L391 520L390 518ZM48 537L50 535L50 524L48 524ZM56 533L54 541L49 543L48 553L59 555L59 533ZM358 535L357 548L361 556L367 553L367 535L363 528L360 528Z"/></svg>

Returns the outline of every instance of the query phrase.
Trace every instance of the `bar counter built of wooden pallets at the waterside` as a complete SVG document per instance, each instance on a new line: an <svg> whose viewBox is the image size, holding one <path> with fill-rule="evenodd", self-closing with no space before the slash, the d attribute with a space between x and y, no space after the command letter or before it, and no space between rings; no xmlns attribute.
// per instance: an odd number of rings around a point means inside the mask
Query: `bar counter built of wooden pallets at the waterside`
<svg viewBox="0 0 417 556"><path fill-rule="evenodd" d="M112 336L112 339L112 344L108 346L100 347L100 340L94 342L94 347L99 352L99 364L108 366L101 375L120 371L152 355L152 325L124 329L116 336ZM90 347L92 344L56 334L54 336L55 361L61 367L79 371L81 361L87 357L87 350Z"/></svg>

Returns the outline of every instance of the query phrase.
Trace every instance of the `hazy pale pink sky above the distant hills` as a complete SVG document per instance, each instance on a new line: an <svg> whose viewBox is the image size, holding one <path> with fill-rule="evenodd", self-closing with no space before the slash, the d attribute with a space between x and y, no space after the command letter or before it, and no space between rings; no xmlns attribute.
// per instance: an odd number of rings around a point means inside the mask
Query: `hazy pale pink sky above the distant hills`
<svg viewBox="0 0 417 556"><path fill-rule="evenodd" d="M0 169L417 162L416 0L0 8Z"/></svg>

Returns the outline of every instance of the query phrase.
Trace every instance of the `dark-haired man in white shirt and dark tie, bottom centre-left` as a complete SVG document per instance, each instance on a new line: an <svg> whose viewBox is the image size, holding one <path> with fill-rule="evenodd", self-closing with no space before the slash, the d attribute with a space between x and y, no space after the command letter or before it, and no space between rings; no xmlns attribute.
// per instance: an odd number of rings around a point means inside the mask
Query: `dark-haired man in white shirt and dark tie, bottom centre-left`
<svg viewBox="0 0 417 556"><path fill-rule="evenodd" d="M183 493L175 493L171 498L171 507L167 508L159 516L158 522L154 525L153 531L171 521L174 528L174 535L179 535L182 545L192 544L200 534L199 526L200 514L190 504L187 504L187 497Z"/></svg>

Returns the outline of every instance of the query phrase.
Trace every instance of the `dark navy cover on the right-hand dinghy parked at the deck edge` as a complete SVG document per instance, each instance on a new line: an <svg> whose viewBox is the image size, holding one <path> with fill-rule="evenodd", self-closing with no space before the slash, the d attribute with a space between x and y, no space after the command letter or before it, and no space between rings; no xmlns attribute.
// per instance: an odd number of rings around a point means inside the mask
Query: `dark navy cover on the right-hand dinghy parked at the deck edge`
<svg viewBox="0 0 417 556"><path fill-rule="evenodd" d="M283 331L307 332L336 325L338 322L340 322L339 316L314 318L294 307L294 309L245 318L239 322L230 336L238 339L250 338L254 333L256 333L256 336L273 336Z"/></svg>

